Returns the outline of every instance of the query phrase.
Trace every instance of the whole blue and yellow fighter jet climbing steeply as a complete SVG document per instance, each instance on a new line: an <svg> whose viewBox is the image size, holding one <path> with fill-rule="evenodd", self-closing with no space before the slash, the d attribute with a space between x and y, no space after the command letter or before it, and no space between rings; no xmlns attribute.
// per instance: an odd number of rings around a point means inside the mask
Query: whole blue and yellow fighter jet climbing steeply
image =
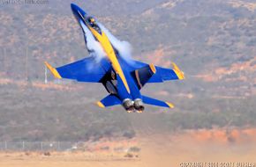
<svg viewBox="0 0 256 167"><path fill-rule="evenodd" d="M89 56L56 69L45 62L45 65L56 78L103 84L109 95L97 102L97 105L102 108L111 105L123 105L128 113L142 113L145 109L143 104L174 107L168 102L141 95L140 89L147 83L184 79L184 73L178 69L175 63L172 63L173 69L164 69L154 66L154 64L133 60L128 62L120 56L118 49L113 46L95 18L89 16L76 4L71 4L71 8L85 34L86 43L86 32L89 30L106 56L100 61L96 61L94 56ZM88 47L87 49L89 53L94 52Z"/></svg>

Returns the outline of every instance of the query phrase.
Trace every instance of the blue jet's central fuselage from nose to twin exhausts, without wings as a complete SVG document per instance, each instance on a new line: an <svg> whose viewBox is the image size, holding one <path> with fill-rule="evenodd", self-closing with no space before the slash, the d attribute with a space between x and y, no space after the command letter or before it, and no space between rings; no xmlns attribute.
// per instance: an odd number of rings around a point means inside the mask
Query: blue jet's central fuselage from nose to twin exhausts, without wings
<svg viewBox="0 0 256 167"><path fill-rule="evenodd" d="M87 30L85 30L87 28L90 33L93 34L94 40L100 43L107 60L111 64L109 76L107 75L103 79L102 84L104 84L109 93L116 94L117 97L120 98L127 111L133 112L136 109L142 112L144 106L138 86L132 79L132 71L129 71L130 64L118 54L117 48L111 44L109 37L103 32L100 25L98 25L96 21L94 21L93 25L90 23L89 18L92 17L89 16L87 12L80 9L79 6L75 4L72 4L71 7L73 15L85 33L84 35L87 35ZM87 49L89 52L91 51L89 48Z"/></svg>

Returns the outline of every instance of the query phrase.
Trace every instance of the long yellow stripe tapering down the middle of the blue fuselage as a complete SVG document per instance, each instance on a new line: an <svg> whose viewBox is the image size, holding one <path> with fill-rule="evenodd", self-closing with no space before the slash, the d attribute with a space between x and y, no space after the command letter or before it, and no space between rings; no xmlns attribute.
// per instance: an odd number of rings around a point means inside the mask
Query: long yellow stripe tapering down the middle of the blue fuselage
<svg viewBox="0 0 256 167"><path fill-rule="evenodd" d="M97 31L95 31L94 28L92 28L90 25L88 25L88 27L89 27L90 31L94 34L94 37L101 43L103 50L106 52L106 54L109 58L109 61L112 63L113 69L115 69L117 74L121 77L121 80L124 83L126 91L128 91L128 93L130 93L130 88L129 88L126 78L124 76L123 69L121 68L121 66L117 60L117 55L115 54L115 51L109 41L109 38L107 37L107 35L104 32L102 32L102 35L101 35Z"/></svg>

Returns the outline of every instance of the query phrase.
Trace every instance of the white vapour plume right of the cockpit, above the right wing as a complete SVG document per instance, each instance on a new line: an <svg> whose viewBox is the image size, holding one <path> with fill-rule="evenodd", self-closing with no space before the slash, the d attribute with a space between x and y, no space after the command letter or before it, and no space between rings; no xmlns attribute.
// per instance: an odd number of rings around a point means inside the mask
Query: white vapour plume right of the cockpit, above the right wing
<svg viewBox="0 0 256 167"><path fill-rule="evenodd" d="M106 33L106 35L109 37L111 44L113 45L113 47L117 49L119 54L125 60L132 60L132 45L127 41L117 40L117 38L112 33L110 33L104 25L102 25L101 23L97 24L100 26L102 31Z"/></svg>

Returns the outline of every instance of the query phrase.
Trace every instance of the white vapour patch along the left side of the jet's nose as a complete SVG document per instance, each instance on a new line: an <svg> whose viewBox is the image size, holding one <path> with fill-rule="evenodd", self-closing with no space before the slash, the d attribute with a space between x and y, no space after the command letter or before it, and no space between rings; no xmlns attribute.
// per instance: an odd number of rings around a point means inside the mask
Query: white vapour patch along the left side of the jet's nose
<svg viewBox="0 0 256 167"><path fill-rule="evenodd" d="M90 55L96 58L96 62L100 62L102 58L106 56L101 44L94 39L94 35L87 28L87 25L85 25L82 21L80 21L80 25L82 26L85 33L85 38L87 39L87 49L93 51Z"/></svg>

